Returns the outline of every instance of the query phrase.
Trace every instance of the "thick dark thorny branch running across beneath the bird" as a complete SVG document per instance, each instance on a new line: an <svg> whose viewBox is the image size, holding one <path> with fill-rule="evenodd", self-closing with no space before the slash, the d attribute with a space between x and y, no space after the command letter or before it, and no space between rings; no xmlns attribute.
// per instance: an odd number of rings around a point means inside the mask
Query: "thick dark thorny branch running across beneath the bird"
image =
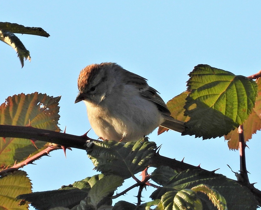
<svg viewBox="0 0 261 210"><path fill-rule="evenodd" d="M0 136L1 137L15 137L15 138L26 138L26 139L36 139L38 141L45 141L45 142L51 142L59 145L63 145L65 147L72 147L72 148L78 148L78 149L86 149L85 143L87 140L93 140L86 136L86 134L82 136L75 136L71 134L66 133L59 133L55 131L49 131L39 128L33 128L33 127L24 127L24 126L11 126L11 125L0 125ZM43 154L44 155L44 154ZM43 156L42 155L42 156ZM170 168L173 168L177 171L184 171L187 169L201 169L199 166L193 166L187 163L184 163L183 161L178 161L175 159L167 158L164 156L159 155L159 153L155 153L151 160L150 160L150 166L158 167L160 165L167 165ZM2 171L6 171L7 169L4 169ZM2 172L1 173L4 173ZM215 170L213 171L215 172ZM149 183L149 182L148 182ZM244 183L241 183L244 184ZM147 184L149 185L149 184ZM132 187L140 186L140 183L133 185ZM245 185L252 191L252 193L255 195L255 198L259 202L259 205L261 205L261 191L256 189L252 184ZM128 189L127 189L128 190ZM125 191L123 192L123 194Z"/></svg>

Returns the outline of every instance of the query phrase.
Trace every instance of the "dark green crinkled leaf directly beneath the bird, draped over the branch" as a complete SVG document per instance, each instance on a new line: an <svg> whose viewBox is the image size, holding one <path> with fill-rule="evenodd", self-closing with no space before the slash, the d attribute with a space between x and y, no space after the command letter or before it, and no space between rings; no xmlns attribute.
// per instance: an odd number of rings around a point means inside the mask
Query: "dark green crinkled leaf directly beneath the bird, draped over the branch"
<svg viewBox="0 0 261 210"><path fill-rule="evenodd" d="M88 157L98 171L105 175L117 175L127 179L143 171L155 153L154 142L93 142L87 148Z"/></svg>

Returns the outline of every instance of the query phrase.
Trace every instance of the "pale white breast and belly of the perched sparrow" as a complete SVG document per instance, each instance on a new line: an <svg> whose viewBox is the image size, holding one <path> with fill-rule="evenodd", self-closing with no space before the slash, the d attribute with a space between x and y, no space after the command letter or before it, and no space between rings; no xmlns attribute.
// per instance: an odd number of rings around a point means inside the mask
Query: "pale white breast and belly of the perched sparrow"
<svg viewBox="0 0 261 210"><path fill-rule="evenodd" d="M103 139L137 141L165 121L155 104L132 91L117 99L108 97L99 105L84 102L93 130Z"/></svg>

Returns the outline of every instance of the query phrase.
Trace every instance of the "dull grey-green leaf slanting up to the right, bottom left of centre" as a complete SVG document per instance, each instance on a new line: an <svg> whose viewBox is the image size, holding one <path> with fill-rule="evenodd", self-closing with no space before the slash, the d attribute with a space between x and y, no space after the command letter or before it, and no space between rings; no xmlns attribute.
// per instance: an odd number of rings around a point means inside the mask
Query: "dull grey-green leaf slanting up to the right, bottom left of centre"
<svg viewBox="0 0 261 210"><path fill-rule="evenodd" d="M123 181L122 177L119 176L104 176L101 180L97 181L89 191L88 198L90 200L88 200L88 203L97 207L98 203L108 196L109 193L114 192L117 187L121 186Z"/></svg>

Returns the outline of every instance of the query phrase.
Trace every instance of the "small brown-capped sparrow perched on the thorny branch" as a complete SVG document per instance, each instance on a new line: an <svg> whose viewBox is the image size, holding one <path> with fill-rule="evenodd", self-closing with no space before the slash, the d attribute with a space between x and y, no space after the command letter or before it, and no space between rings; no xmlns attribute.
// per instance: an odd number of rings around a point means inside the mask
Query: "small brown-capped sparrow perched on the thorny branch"
<svg viewBox="0 0 261 210"><path fill-rule="evenodd" d="M94 132L103 139L137 141L162 126L184 131L184 122L170 116L158 92L145 78L116 63L91 64L78 78L79 94Z"/></svg>

